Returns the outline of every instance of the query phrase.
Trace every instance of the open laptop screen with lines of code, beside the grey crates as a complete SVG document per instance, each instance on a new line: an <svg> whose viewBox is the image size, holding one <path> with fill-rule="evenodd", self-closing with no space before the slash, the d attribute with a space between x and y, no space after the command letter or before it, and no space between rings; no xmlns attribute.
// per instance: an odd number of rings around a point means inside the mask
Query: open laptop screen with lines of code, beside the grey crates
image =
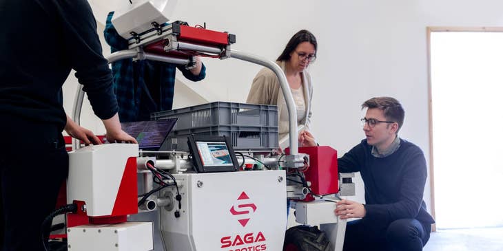
<svg viewBox="0 0 503 251"><path fill-rule="evenodd" d="M157 151L173 129L176 118L121 123L123 131L138 141L138 148Z"/></svg>

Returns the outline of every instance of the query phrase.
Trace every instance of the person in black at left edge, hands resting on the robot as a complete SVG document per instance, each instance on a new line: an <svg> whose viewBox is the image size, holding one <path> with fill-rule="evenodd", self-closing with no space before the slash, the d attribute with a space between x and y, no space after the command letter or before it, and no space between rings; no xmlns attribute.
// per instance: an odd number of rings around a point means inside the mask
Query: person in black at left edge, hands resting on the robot
<svg viewBox="0 0 503 251"><path fill-rule="evenodd" d="M0 25L0 248L43 250L41 223L68 175L61 132L100 143L63 109L61 87L71 69L107 140L136 140L121 129L88 1L0 0Z"/></svg>

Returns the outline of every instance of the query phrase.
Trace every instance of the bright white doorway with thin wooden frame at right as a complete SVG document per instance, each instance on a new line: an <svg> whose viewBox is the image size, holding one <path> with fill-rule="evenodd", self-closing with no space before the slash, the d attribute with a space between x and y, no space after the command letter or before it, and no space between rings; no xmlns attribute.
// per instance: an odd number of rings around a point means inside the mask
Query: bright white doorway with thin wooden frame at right
<svg viewBox="0 0 503 251"><path fill-rule="evenodd" d="M429 28L436 227L503 226L503 28Z"/></svg>

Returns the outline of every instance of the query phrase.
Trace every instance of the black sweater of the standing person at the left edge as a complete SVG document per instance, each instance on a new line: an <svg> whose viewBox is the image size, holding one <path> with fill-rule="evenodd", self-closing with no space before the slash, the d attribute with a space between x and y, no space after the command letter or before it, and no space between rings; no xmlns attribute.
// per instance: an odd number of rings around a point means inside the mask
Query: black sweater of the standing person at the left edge
<svg viewBox="0 0 503 251"><path fill-rule="evenodd" d="M62 131L61 86L70 70L94 113L114 116L112 74L85 0L0 0L0 114Z"/></svg>

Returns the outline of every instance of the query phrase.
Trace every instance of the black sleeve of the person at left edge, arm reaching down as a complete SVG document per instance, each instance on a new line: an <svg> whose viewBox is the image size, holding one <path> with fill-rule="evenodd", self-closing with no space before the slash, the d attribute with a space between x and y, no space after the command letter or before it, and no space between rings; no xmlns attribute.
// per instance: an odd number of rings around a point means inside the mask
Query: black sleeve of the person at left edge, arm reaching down
<svg viewBox="0 0 503 251"><path fill-rule="evenodd" d="M112 71L103 57L96 20L88 1L59 1L63 45L62 48L76 78L84 91L96 116L107 119L118 111L117 100L112 89Z"/></svg>

